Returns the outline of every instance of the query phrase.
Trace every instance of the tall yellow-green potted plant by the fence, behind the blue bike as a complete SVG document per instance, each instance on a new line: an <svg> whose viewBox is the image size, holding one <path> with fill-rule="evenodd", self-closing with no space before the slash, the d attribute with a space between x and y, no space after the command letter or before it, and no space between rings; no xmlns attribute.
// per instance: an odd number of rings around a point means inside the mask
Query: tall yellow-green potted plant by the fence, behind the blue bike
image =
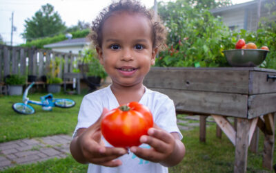
<svg viewBox="0 0 276 173"><path fill-rule="evenodd" d="M61 58L56 57L55 61L51 60L48 66L47 90L49 93L59 93L61 91L61 83L63 81L58 77L60 63Z"/></svg>

